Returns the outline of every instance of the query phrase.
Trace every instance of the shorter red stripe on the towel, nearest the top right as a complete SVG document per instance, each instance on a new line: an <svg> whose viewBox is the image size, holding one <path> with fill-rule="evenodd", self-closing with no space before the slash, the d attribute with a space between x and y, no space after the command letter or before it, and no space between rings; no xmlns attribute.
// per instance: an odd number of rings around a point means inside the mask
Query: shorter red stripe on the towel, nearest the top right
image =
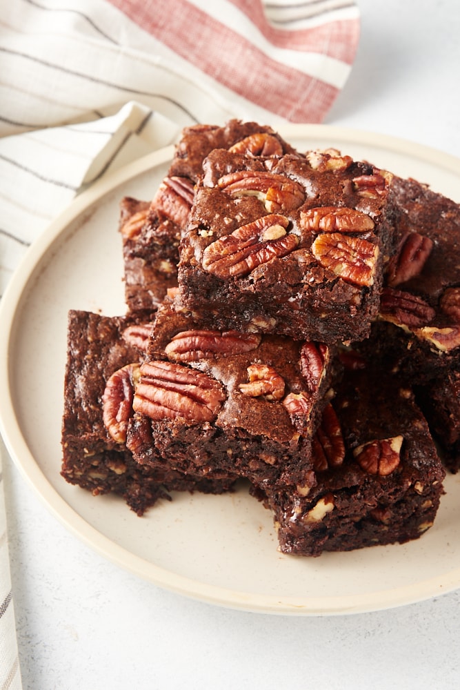
<svg viewBox="0 0 460 690"><path fill-rule="evenodd" d="M359 43L359 19L325 21L308 29L277 29L266 17L261 0L228 0L257 26L263 37L277 48L319 52L352 65Z"/></svg>

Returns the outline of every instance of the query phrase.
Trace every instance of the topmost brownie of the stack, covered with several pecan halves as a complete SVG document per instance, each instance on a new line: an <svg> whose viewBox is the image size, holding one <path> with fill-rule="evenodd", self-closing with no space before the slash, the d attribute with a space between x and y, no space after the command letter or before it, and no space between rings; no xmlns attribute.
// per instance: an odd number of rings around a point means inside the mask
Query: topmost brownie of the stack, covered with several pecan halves
<svg viewBox="0 0 460 690"><path fill-rule="evenodd" d="M207 328L368 336L393 251L392 175L339 152L217 149L180 245L179 302Z"/></svg>

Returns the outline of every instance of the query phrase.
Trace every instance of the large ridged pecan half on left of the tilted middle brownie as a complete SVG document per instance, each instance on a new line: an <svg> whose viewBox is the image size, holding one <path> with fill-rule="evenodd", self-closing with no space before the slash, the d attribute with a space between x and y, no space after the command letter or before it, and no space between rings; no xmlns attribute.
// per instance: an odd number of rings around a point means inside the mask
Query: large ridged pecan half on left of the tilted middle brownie
<svg viewBox="0 0 460 690"><path fill-rule="evenodd" d="M208 374L171 362L146 362L132 406L152 420L212 422L225 399L221 384Z"/></svg>

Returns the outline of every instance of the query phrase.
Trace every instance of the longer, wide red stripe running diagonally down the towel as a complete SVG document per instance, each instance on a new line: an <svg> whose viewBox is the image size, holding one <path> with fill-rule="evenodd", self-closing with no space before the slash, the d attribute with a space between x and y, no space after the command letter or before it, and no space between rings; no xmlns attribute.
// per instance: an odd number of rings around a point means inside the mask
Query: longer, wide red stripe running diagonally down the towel
<svg viewBox="0 0 460 690"><path fill-rule="evenodd" d="M109 1L226 88L292 122L321 122L337 96L334 86L270 59L185 0L167 12L152 0Z"/></svg>

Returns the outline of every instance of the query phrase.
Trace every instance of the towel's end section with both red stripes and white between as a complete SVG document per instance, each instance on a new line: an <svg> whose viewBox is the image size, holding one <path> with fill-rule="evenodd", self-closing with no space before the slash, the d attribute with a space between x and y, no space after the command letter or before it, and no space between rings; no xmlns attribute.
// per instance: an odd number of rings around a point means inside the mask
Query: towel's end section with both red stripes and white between
<svg viewBox="0 0 460 690"><path fill-rule="evenodd" d="M359 17L353 2L297 3L278 28L259 0L110 0L174 55L208 75L215 88L293 122L320 122L354 59ZM210 8L212 6L212 14ZM238 13L237 28L230 14ZM237 14L234 14L237 17ZM244 19L245 21L241 21Z"/></svg>

